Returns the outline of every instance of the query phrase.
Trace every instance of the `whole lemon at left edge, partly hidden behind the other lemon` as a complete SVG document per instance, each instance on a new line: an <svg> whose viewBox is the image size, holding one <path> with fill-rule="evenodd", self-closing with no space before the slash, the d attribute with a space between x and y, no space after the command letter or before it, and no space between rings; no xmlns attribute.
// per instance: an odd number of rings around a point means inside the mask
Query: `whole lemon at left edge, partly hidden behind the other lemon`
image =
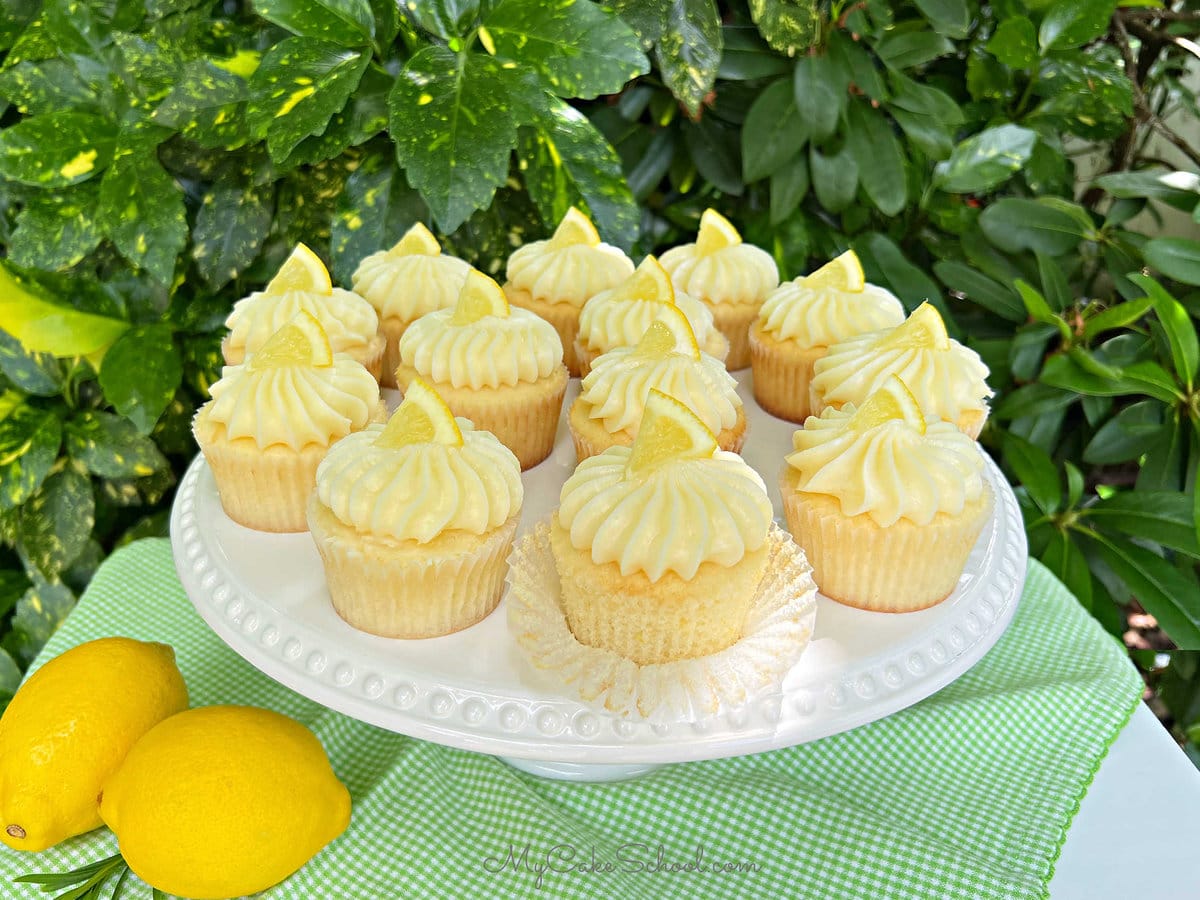
<svg viewBox="0 0 1200 900"><path fill-rule="evenodd" d="M167 644L102 637L52 659L0 719L0 840L36 851L100 828L101 786L182 709L187 685Z"/></svg>

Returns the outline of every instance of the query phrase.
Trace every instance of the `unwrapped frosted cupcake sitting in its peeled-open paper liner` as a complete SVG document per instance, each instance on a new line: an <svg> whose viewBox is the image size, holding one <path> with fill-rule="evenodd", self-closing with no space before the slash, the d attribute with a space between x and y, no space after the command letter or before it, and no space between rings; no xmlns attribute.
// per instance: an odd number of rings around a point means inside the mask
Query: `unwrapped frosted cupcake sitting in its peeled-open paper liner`
<svg viewBox="0 0 1200 900"><path fill-rule="evenodd" d="M652 391L632 448L583 461L563 485L550 540L571 632L641 666L730 647L767 569L770 522L758 473Z"/></svg>

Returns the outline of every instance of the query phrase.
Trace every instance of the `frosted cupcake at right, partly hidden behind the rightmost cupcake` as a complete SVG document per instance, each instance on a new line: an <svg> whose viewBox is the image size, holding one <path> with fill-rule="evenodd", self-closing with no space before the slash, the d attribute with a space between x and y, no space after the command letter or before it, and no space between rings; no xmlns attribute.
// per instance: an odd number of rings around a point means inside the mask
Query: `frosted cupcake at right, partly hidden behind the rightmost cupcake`
<svg viewBox="0 0 1200 900"><path fill-rule="evenodd" d="M866 283L852 250L785 281L750 326L755 400L772 415L803 422L811 412L812 365L830 344L901 322L904 306L892 292Z"/></svg>

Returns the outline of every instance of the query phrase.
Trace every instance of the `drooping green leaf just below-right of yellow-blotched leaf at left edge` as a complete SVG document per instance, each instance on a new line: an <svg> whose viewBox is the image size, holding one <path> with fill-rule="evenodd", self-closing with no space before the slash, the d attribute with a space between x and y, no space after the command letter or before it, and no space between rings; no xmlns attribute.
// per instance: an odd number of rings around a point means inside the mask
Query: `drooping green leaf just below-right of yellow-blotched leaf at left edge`
<svg viewBox="0 0 1200 900"><path fill-rule="evenodd" d="M121 256L162 284L187 244L184 194L154 154L126 151L100 184L100 221Z"/></svg>

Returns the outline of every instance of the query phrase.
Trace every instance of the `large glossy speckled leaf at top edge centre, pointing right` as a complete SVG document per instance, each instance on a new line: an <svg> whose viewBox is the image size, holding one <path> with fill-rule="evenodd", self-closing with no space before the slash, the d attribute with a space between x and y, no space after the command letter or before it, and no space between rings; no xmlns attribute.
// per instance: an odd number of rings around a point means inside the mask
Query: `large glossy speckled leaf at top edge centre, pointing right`
<svg viewBox="0 0 1200 900"><path fill-rule="evenodd" d="M500 0L485 14L484 26L497 55L532 66L563 97L590 100L616 94L626 82L649 71L649 60L629 25L613 11L586 0ZM666 38L664 35L661 40ZM676 52L683 49L667 50Z"/></svg>

